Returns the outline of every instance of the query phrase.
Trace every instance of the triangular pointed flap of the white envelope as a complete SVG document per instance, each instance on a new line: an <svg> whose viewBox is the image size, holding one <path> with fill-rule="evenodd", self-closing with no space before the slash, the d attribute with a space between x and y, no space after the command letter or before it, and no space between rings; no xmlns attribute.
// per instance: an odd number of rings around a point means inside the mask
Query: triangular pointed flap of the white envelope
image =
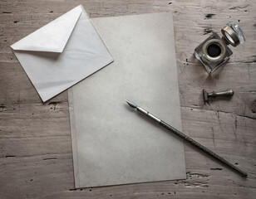
<svg viewBox="0 0 256 199"><path fill-rule="evenodd" d="M81 11L81 6L75 7L36 32L32 32L22 40L17 41L11 46L12 49L19 51L62 52L76 26Z"/></svg>

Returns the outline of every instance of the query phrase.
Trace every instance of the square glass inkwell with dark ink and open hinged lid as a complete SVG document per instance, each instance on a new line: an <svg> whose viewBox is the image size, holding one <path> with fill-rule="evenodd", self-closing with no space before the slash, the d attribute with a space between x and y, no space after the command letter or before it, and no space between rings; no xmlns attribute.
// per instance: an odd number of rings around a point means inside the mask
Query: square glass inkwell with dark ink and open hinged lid
<svg viewBox="0 0 256 199"><path fill-rule="evenodd" d="M221 32L222 38L214 32L194 49L195 58L204 65L209 74L229 60L233 54L229 44L235 47L245 41L244 33L234 22L227 23Z"/></svg>

